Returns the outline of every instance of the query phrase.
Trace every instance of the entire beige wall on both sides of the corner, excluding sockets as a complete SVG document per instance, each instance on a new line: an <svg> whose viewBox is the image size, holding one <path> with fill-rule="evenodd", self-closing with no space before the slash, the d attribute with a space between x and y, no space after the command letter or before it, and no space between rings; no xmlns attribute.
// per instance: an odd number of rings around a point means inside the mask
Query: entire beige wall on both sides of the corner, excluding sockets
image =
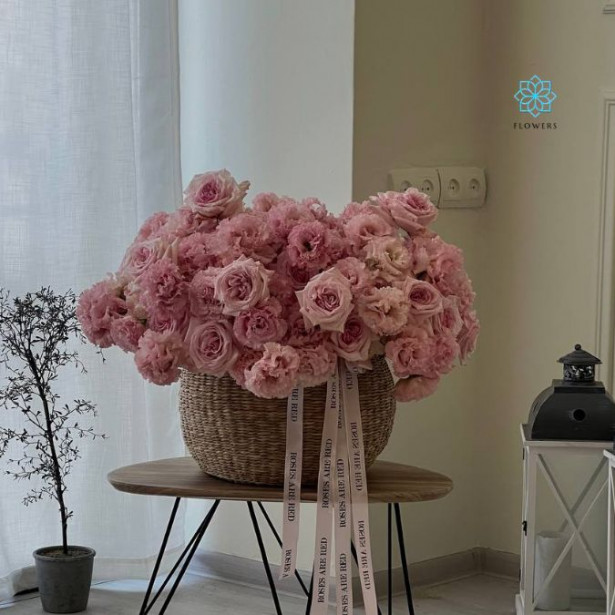
<svg viewBox="0 0 615 615"><path fill-rule="evenodd" d="M413 560L476 545L519 551L518 425L575 342L595 346L601 87L615 87L615 19L600 0L358 0L354 196L405 165L484 165L480 210L441 211L461 246L482 334L471 364L400 406L384 456L455 479L408 506ZM517 131L513 94L538 73L555 131ZM545 119L544 117L541 118Z"/></svg>

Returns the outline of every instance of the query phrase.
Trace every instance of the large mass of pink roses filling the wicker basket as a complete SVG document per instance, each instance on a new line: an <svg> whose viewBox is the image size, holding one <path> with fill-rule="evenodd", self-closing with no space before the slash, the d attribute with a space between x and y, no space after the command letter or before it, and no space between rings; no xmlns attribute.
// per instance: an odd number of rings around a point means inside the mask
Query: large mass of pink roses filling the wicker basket
<svg viewBox="0 0 615 615"><path fill-rule="evenodd" d="M429 225L414 188L350 203L197 175L183 204L145 221L119 270L81 295L77 315L100 347L134 354L156 384L187 369L229 375L259 397L327 381L338 360L370 369L384 355L394 394L431 395L474 351L479 324L463 254Z"/></svg>

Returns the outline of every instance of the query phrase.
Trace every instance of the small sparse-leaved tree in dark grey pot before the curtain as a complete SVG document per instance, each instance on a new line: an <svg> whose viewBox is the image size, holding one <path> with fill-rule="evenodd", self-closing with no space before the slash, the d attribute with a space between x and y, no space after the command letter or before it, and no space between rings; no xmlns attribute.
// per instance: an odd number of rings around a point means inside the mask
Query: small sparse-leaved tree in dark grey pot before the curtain
<svg viewBox="0 0 615 615"><path fill-rule="evenodd" d="M66 478L79 458L79 441L104 438L81 425L95 415L83 399L66 402L54 391L61 368L85 368L70 347L83 341L75 315L76 297L42 288L11 298L0 289L0 408L20 412L19 428L0 427L0 458L16 480L35 479L24 498L29 505L54 499L60 512L61 544L34 552L39 592L48 613L77 613L87 608L95 552L68 542L72 511L66 502Z"/></svg>

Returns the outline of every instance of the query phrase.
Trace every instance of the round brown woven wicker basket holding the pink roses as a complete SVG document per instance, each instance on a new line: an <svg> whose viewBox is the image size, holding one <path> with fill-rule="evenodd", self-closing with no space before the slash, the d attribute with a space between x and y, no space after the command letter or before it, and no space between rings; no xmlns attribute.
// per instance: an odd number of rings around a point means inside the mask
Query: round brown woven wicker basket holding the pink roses
<svg viewBox="0 0 615 615"><path fill-rule="evenodd" d="M386 446L395 415L393 379L383 358L359 376L365 458L369 467ZM304 485L318 479L326 385L304 390ZM286 451L286 400L260 399L229 376L184 371L179 411L184 441L201 470L225 480L282 485Z"/></svg>

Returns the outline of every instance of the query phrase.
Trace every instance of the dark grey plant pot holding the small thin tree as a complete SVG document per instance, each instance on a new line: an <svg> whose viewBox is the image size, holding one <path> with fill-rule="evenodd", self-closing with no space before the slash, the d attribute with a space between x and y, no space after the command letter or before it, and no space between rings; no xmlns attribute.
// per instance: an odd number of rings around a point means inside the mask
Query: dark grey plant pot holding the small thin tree
<svg viewBox="0 0 615 615"><path fill-rule="evenodd" d="M38 590L47 613L80 613L88 606L96 551L88 547L44 547L34 552Z"/></svg>

